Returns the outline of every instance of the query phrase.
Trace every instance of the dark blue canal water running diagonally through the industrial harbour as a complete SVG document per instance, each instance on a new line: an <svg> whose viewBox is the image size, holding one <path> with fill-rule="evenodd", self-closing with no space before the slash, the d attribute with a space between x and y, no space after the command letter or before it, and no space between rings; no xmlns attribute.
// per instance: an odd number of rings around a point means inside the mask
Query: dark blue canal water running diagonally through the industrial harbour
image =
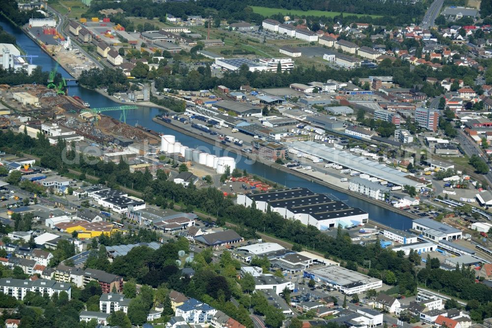
<svg viewBox="0 0 492 328"><path fill-rule="evenodd" d="M55 67L55 61L51 56L43 52L39 46L31 40L25 33L15 26L12 26L8 21L0 16L0 26L6 32L14 35L17 39L17 44L29 55L38 55L38 58L33 58L32 64L39 65L43 67L43 70L52 70ZM62 68L59 67L59 72L63 77L70 77L70 75ZM82 88L78 86L75 82L68 82L68 95L69 96L79 96L91 104L92 108L101 107L116 107L120 106L119 103L106 98L95 91ZM208 151L209 153L218 156L230 156L237 158L238 155L233 152L227 152L219 147L213 147L212 145L195 139L191 136L185 135L178 131L167 129L166 127L155 123L152 121L156 115L160 114L161 111L158 108L144 107L138 110L128 111L126 116L126 123L134 125L138 123L141 126L152 129L154 131L162 132L165 134L173 134L176 136L177 141L181 142L183 145L192 148L199 148ZM120 118L120 112L109 111L105 114L117 118ZM224 152L226 152L224 154ZM241 156L240 156L241 157ZM393 227L395 229L407 230L411 228L411 219L401 215L399 213L392 212L385 208L379 207L369 201L365 201L356 197L352 197L349 194L340 193L328 187L322 186L315 182L310 182L305 179L299 178L295 175L285 173L283 171L272 168L269 165L261 163L251 163L250 160L242 157L237 163L237 167L241 169L246 169L247 172L251 174L256 174L257 176L262 176L268 178L271 181L277 182L279 184L285 185L287 187L305 187L309 188L315 193L328 194L329 197L336 197L340 200L344 200L352 207L359 207L369 213L369 218L373 221L380 222L384 225Z"/></svg>

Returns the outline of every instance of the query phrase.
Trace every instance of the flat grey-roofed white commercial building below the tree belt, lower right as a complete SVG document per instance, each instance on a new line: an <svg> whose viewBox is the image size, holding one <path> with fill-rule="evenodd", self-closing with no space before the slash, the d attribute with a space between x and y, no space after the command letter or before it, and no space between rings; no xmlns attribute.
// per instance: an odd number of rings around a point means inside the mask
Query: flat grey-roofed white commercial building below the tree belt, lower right
<svg viewBox="0 0 492 328"><path fill-rule="evenodd" d="M379 279L337 265L305 270L304 277L325 283L347 295L360 294L369 289L383 287L383 282Z"/></svg>

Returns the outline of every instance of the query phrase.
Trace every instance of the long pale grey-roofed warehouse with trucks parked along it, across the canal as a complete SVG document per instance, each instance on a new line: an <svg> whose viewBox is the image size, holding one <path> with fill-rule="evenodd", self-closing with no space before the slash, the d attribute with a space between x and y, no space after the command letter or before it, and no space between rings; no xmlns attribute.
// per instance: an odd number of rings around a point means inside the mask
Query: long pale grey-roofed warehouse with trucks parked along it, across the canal
<svg viewBox="0 0 492 328"><path fill-rule="evenodd" d="M408 173L313 141L297 141L290 148L319 157L327 163L336 163L358 172L367 173L397 186L409 185L421 188L427 184L425 181L416 181L417 179L413 179Z"/></svg>

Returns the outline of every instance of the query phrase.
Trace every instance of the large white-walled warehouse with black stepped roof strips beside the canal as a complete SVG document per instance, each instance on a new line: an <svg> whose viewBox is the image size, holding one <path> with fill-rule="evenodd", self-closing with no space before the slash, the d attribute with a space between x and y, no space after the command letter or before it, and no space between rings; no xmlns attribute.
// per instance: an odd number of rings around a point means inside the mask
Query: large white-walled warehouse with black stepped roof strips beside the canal
<svg viewBox="0 0 492 328"><path fill-rule="evenodd" d="M299 220L304 225L311 225L319 230L327 230L338 225L343 228L353 227L366 223L369 219L369 214L360 208L350 207L342 201L315 194L306 188L238 195L238 204L251 206L253 200L256 208L262 211L266 211L270 205L272 211L284 218Z"/></svg>

